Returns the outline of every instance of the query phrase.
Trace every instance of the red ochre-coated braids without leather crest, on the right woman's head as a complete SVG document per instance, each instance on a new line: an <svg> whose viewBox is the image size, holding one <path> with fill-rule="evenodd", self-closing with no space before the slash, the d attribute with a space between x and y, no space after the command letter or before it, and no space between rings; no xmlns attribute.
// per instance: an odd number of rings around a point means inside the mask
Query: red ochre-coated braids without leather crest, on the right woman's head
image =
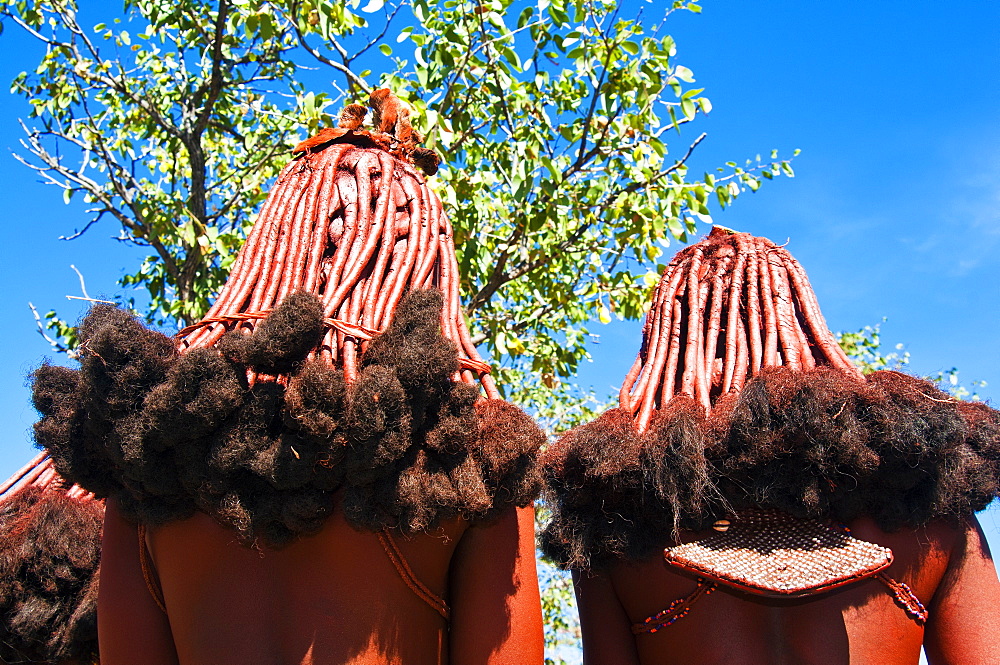
<svg viewBox="0 0 1000 665"><path fill-rule="evenodd" d="M766 238L716 227L664 270L619 398L642 432L675 395L708 411L763 367L816 365L858 371L827 329L802 267Z"/></svg>

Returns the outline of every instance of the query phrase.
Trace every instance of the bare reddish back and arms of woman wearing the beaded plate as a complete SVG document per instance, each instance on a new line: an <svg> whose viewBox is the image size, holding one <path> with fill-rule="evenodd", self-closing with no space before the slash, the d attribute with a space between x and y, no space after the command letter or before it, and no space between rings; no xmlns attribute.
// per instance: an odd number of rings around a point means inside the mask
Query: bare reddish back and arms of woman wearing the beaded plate
<svg viewBox="0 0 1000 665"><path fill-rule="evenodd" d="M925 627L866 580L797 601L748 600L720 585L673 625L633 636L633 622L695 588L654 556L574 574L584 665L916 665L921 644L930 665L1000 663L1000 582L974 517L897 533L868 519L850 526L892 549L887 573L923 602Z"/></svg>

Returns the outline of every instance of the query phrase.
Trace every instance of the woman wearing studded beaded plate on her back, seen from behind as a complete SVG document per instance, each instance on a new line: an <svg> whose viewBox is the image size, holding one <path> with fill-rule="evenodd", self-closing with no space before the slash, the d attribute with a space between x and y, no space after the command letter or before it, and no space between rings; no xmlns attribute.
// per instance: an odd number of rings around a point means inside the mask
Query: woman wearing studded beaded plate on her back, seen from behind
<svg viewBox="0 0 1000 665"><path fill-rule="evenodd" d="M679 252L620 402L545 459L586 665L1000 662L1000 413L863 377L783 248Z"/></svg>

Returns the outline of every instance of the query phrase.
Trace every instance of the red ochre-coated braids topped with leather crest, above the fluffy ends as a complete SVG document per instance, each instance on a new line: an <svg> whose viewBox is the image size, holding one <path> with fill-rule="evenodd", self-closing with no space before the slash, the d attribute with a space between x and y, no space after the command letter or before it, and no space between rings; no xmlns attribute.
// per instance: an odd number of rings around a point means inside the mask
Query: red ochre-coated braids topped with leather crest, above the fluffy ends
<svg viewBox="0 0 1000 665"><path fill-rule="evenodd" d="M261 313L303 291L320 297L328 322L311 357L351 383L368 339L385 329L403 294L436 288L461 380L498 398L465 325L451 224L411 163L430 170L428 151L415 145L408 111L388 91L373 93L372 106L375 131L360 129L364 107L352 105L340 127L296 149L300 157L278 176L229 281L205 317L181 331L180 347L212 346L228 330L252 332ZM436 168L436 157L430 161Z"/></svg>

